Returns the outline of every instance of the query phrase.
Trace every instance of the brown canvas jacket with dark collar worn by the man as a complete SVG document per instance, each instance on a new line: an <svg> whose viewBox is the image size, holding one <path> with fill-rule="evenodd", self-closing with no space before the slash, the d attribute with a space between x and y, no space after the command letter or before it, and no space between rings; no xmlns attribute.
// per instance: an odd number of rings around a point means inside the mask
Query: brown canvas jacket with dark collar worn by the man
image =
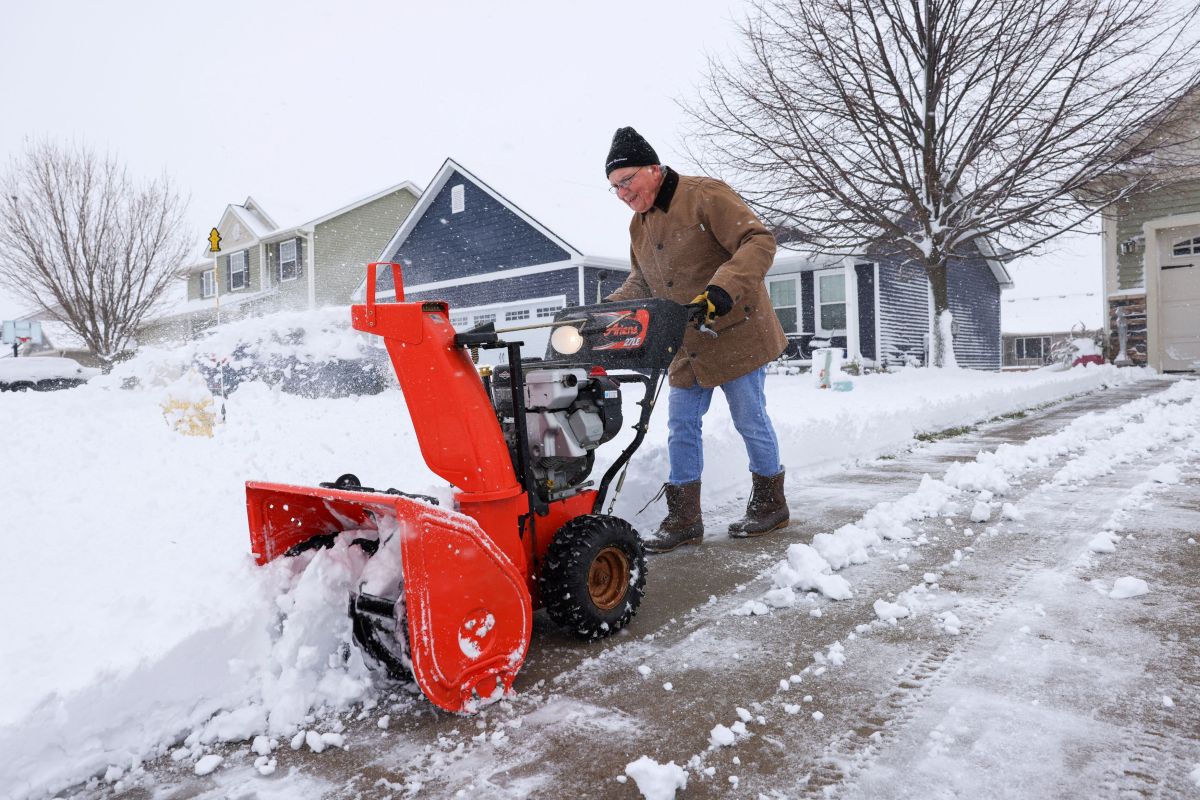
<svg viewBox="0 0 1200 800"><path fill-rule="evenodd" d="M664 170L654 206L629 224L629 278L607 299L686 303L710 283L725 289L733 309L713 324L718 336L689 327L668 373L679 389L719 386L787 347L764 281L775 237L726 184Z"/></svg>

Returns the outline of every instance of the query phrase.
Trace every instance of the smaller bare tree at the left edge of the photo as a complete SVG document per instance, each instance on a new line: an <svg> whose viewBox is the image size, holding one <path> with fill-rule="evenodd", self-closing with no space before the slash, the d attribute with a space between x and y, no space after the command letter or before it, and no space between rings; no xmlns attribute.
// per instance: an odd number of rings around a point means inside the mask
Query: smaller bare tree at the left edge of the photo
<svg viewBox="0 0 1200 800"><path fill-rule="evenodd" d="M14 158L0 191L0 283L110 362L184 263L186 201L167 178L137 186L114 157L52 143Z"/></svg>

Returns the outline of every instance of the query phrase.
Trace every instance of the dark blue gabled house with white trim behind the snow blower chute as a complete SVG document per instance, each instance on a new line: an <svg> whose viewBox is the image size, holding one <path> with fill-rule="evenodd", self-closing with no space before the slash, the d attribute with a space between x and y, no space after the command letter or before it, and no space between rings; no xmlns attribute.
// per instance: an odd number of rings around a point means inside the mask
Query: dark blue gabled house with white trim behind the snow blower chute
<svg viewBox="0 0 1200 800"><path fill-rule="evenodd" d="M590 194L619 211L602 181ZM613 233L625 236L625 227ZM449 158L379 260L403 265L406 300L449 302L458 330L486 321L498 329L546 321L565 306L598 302L630 269L628 257L574 246ZM356 297L364 291L360 287ZM395 296L390 273L379 276L376 293L380 300ZM522 337L527 353L545 347L541 333Z"/></svg>

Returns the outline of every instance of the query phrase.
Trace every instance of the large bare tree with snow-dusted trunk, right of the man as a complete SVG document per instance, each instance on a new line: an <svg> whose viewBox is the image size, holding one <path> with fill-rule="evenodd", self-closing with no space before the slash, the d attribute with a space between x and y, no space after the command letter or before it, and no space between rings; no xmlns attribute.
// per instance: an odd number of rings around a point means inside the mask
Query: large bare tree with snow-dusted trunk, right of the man
<svg viewBox="0 0 1200 800"><path fill-rule="evenodd" d="M1196 136L1180 101L1200 78L1200 10L1174 5L757 0L744 54L710 62L689 145L814 249L924 267L941 320L955 257L1028 252L1171 160L1194 166L1163 148Z"/></svg>

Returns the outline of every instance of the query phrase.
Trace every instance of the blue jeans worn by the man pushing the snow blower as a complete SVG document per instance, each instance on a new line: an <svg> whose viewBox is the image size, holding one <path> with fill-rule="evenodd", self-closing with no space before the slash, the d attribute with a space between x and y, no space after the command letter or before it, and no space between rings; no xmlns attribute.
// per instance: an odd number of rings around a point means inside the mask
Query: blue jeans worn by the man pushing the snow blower
<svg viewBox="0 0 1200 800"><path fill-rule="evenodd" d="M725 402L730 404L733 427L742 434L750 456L750 471L773 477L784 471L779 463L779 440L767 416L766 368L721 384ZM689 389L671 387L667 398L667 453L671 457L670 483L698 481L704 471L702 421L713 402L713 390L700 385Z"/></svg>

